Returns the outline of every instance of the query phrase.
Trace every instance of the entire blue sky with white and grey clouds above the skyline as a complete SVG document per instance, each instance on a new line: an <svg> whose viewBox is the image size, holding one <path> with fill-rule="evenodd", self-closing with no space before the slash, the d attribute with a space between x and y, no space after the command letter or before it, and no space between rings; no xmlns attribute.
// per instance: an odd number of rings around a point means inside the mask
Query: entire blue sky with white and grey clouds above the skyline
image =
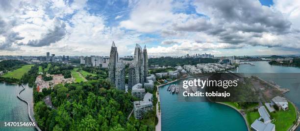
<svg viewBox="0 0 300 131"><path fill-rule="evenodd" d="M0 55L300 54L300 0L0 0Z"/></svg>

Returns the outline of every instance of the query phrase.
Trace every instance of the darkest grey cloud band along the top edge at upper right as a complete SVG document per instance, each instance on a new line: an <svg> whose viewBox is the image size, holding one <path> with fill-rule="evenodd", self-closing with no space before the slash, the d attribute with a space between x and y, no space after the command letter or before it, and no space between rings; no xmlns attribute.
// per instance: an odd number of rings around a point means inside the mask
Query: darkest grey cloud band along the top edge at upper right
<svg viewBox="0 0 300 131"><path fill-rule="evenodd" d="M289 31L291 22L286 20L279 12L272 11L267 6L262 6L259 1L254 0L199 0L196 6L207 7L213 11L214 18L225 22L237 22L247 24L260 24L266 30L276 33ZM204 12L205 13L205 12ZM211 16L209 16L211 17Z"/></svg>

